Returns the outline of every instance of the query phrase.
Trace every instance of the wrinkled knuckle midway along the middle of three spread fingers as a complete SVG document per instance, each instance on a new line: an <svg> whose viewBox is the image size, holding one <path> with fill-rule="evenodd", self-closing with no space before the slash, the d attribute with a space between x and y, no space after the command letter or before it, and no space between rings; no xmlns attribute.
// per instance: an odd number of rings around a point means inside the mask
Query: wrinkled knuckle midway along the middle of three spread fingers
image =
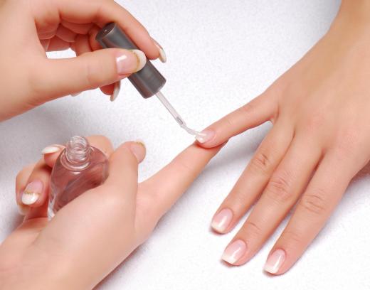
<svg viewBox="0 0 370 290"><path fill-rule="evenodd" d="M292 198L292 186L288 176L288 173L283 173L271 178L266 187L266 194L269 198L280 203Z"/></svg>

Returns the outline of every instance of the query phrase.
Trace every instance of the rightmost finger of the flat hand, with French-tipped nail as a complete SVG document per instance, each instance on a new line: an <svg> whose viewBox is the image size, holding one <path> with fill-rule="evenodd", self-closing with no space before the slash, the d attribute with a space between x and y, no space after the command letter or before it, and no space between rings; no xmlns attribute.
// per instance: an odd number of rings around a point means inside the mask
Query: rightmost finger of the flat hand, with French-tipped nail
<svg viewBox="0 0 370 290"><path fill-rule="evenodd" d="M302 195L295 213L270 251L265 271L283 274L300 258L342 198L358 168L328 152Z"/></svg>

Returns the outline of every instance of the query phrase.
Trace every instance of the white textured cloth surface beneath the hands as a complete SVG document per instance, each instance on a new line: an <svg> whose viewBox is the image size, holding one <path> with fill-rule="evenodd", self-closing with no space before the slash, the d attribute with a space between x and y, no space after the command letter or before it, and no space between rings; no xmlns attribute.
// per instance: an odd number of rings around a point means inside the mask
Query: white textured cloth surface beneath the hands
<svg viewBox="0 0 370 290"><path fill-rule="evenodd" d="M327 31L339 2L120 1L165 48L168 63L156 62L167 78L163 92L196 129L263 92ZM220 261L236 230L213 234L211 217L269 128L265 124L232 139L148 242L97 289L370 289L366 173L351 183L328 225L287 274L274 278L262 271L283 227L245 266ZM16 173L36 161L44 146L75 134L104 134L115 146L141 138L148 149L140 166L144 179L193 141L158 100L143 100L128 81L113 103L98 90L84 92L3 122L0 131L0 240L21 221L14 202Z"/></svg>

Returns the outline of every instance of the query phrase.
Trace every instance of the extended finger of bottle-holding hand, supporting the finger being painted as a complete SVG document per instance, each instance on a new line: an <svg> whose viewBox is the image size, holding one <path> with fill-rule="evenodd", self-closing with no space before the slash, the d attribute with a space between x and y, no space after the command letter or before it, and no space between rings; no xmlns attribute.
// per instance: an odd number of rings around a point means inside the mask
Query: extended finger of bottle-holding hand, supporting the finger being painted
<svg viewBox="0 0 370 290"><path fill-rule="evenodd" d="M180 198L201 173L208 161L221 149L203 149L193 144L157 174L139 185L137 228L144 229L157 222Z"/></svg>

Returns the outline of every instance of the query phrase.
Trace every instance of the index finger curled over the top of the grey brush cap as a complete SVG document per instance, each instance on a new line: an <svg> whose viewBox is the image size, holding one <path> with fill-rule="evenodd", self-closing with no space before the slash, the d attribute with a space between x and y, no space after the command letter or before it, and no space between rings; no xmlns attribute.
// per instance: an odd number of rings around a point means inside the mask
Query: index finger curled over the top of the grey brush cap
<svg viewBox="0 0 370 290"><path fill-rule="evenodd" d="M149 36L148 31L126 9L115 1L109 0L55 0L51 5L46 1L49 9L36 9L36 26L50 31L51 26L58 25L60 21L70 23L95 23L97 26L105 26L110 22L116 22L136 43L140 50L144 51L148 58L157 58L159 50Z"/></svg>

